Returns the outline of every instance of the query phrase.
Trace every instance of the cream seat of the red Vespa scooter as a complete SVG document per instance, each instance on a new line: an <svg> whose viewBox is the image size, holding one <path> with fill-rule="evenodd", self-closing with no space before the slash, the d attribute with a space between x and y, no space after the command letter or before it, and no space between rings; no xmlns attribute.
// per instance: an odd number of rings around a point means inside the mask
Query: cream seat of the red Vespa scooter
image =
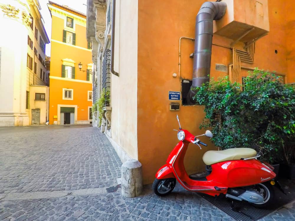
<svg viewBox="0 0 295 221"><path fill-rule="evenodd" d="M227 160L240 160L256 156L256 151L251 148L232 148L227 150L209 150L203 155L206 165L216 164Z"/></svg>

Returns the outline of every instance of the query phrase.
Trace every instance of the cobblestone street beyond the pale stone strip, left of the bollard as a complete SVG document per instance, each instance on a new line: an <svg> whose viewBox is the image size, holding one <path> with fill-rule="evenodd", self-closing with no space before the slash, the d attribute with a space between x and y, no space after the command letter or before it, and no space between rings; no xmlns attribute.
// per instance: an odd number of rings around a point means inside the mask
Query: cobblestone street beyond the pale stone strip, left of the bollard
<svg viewBox="0 0 295 221"><path fill-rule="evenodd" d="M121 176L108 139L89 126L1 128L0 153L0 194L110 187Z"/></svg>

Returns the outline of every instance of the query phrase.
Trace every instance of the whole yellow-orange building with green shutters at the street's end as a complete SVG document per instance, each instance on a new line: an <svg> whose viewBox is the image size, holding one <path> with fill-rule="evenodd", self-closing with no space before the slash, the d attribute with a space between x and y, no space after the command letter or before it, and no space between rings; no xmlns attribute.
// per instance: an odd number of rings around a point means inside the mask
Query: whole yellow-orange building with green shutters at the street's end
<svg viewBox="0 0 295 221"><path fill-rule="evenodd" d="M89 124L92 61L85 39L86 15L51 1L48 8L52 16L49 124Z"/></svg>

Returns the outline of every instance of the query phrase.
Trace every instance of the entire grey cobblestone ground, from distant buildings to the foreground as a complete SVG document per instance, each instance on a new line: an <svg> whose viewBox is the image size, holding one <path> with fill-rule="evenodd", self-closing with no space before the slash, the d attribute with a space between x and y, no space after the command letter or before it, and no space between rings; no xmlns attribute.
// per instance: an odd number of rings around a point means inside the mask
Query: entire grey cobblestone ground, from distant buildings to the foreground
<svg viewBox="0 0 295 221"><path fill-rule="evenodd" d="M168 197L148 185L122 198L121 164L97 128L0 128L0 220L234 220L179 184ZM294 211L289 204L263 221L294 220Z"/></svg>

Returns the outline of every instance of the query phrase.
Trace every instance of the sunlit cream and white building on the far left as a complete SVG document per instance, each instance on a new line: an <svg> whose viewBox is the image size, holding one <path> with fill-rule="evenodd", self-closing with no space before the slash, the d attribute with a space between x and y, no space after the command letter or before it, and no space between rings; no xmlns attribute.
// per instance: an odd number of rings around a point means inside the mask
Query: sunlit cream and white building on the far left
<svg viewBox="0 0 295 221"><path fill-rule="evenodd" d="M0 2L0 126L45 124L48 119L49 38L40 9L38 0Z"/></svg>

